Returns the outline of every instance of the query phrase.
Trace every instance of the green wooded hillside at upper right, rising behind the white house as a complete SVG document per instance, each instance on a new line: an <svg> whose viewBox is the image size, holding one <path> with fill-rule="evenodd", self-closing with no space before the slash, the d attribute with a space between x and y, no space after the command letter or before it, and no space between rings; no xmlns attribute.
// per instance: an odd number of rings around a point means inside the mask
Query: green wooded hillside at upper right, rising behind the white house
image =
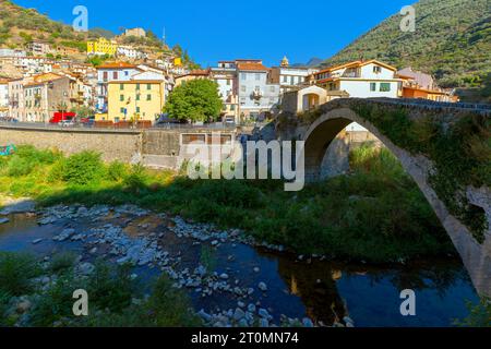
<svg viewBox="0 0 491 349"><path fill-rule="evenodd" d="M491 72L490 0L421 0L414 7L415 33L399 29L397 13L322 67L379 59L429 72L443 87L480 87Z"/></svg>

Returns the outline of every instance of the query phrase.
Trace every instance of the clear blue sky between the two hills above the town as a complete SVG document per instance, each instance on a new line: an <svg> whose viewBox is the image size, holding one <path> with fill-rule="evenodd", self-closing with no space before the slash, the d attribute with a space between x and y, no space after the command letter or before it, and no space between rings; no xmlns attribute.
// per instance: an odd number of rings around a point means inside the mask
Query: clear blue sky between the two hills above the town
<svg viewBox="0 0 491 349"><path fill-rule="evenodd" d="M179 43L203 67L218 60L262 58L277 65L328 58L415 0L14 0L71 24L77 4L88 9L88 26L119 33L141 26ZM135 5L136 4L136 5Z"/></svg>

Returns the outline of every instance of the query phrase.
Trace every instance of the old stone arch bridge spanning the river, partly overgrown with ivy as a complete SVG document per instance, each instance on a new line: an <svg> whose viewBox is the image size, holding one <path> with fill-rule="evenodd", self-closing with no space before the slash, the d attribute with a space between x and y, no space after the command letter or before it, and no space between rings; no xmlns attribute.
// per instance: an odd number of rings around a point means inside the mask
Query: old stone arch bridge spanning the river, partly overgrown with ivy
<svg viewBox="0 0 491 349"><path fill-rule="evenodd" d="M306 178L309 181L319 180L323 172L323 158L330 144L350 123L357 122L375 135L399 160L406 172L416 181L426 198L434 209L443 227L451 237L472 282L480 294L491 296L491 188L489 173L484 181L476 188L470 183L460 183L460 190L454 197L439 195L431 180L438 164L426 155L426 152L415 149L415 144L400 137L412 132L414 125L419 125L421 134L429 125L429 120L440 122L442 132L451 130L460 120L470 120L481 128L470 128L480 134L469 134L469 137L481 136L489 142L491 134L491 106L472 106L459 104L442 104L417 100L394 99L335 99L307 113L285 111L276 122L276 135L280 141L304 141ZM464 122L464 121L462 121ZM391 129L392 128L392 129ZM430 133L431 135L431 133ZM409 136L409 134L406 134ZM486 140L488 137L488 140ZM421 137L421 148L431 137ZM417 145L417 144L416 144ZM417 147L416 147L417 148ZM490 149L488 148L488 152ZM445 149L441 149L440 153ZM481 166L490 169L489 154L484 156ZM482 160L482 159L481 159ZM488 161L488 163L486 163ZM486 177L487 176L487 177ZM479 213L483 221L477 237L472 221L463 218L462 212L455 210L450 202L455 201L460 206ZM476 219L476 218L475 218Z"/></svg>

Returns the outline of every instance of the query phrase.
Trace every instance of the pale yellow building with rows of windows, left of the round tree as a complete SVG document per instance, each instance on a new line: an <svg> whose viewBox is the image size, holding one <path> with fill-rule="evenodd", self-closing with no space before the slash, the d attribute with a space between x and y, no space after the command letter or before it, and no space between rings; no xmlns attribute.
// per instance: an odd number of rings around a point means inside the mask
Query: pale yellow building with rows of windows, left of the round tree
<svg viewBox="0 0 491 349"><path fill-rule="evenodd" d="M108 121L155 122L165 105L165 82L159 80L113 81L108 84Z"/></svg>

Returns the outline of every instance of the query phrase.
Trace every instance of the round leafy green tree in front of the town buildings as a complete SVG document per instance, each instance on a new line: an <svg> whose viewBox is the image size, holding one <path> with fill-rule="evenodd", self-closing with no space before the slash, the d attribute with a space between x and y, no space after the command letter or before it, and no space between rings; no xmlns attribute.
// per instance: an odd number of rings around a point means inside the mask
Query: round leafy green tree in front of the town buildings
<svg viewBox="0 0 491 349"><path fill-rule="evenodd" d="M192 80L172 91L164 111L172 119L209 122L219 116L221 107L217 83Z"/></svg>

